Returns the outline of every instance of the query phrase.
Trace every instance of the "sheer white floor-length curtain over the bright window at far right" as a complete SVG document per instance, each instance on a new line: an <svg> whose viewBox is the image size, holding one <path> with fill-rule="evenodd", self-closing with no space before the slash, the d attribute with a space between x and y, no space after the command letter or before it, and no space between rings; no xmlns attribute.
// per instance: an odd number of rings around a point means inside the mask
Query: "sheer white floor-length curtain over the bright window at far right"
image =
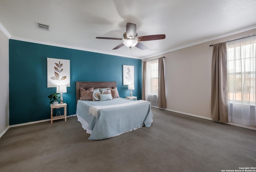
<svg viewBox="0 0 256 172"><path fill-rule="evenodd" d="M256 127L256 36L227 42L228 121Z"/></svg>

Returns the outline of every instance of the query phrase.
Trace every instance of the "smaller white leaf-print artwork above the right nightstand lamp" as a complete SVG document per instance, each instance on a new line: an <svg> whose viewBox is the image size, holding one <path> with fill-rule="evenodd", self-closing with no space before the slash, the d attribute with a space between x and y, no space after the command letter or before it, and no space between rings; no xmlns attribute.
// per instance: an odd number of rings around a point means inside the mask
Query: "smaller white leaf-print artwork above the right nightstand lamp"
<svg viewBox="0 0 256 172"><path fill-rule="evenodd" d="M134 66L123 65L123 85L134 84Z"/></svg>

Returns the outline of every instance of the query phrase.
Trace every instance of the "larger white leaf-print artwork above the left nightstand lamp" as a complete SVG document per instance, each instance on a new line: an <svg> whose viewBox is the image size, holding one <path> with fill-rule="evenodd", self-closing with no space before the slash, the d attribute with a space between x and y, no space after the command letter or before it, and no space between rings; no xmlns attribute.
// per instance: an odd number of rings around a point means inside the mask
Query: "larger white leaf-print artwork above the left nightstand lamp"
<svg viewBox="0 0 256 172"><path fill-rule="evenodd" d="M47 87L70 87L70 60L47 58Z"/></svg>

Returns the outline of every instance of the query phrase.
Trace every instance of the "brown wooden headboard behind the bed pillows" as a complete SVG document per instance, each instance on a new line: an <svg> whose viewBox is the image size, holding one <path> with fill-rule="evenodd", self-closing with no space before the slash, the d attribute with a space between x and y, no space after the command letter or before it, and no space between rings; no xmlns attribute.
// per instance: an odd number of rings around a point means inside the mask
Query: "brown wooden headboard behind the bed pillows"
<svg viewBox="0 0 256 172"><path fill-rule="evenodd" d="M89 89L94 87L96 88L106 88L106 87L110 87L112 89L114 89L116 87L116 81L112 81L112 82L83 82L83 81L77 81L76 82L76 103L80 98L80 88L84 88L84 89Z"/></svg>

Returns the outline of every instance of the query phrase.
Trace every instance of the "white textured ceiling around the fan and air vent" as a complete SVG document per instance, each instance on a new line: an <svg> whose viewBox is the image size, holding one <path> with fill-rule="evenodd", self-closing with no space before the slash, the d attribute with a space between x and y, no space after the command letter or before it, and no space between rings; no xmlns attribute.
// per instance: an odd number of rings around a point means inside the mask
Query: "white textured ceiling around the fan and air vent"
<svg viewBox="0 0 256 172"><path fill-rule="evenodd" d="M0 24L10 39L140 59L256 28L255 16L256 0L0 0ZM146 50L112 50L122 41L95 38L123 38L127 22L137 25L138 36L166 39L141 42Z"/></svg>

